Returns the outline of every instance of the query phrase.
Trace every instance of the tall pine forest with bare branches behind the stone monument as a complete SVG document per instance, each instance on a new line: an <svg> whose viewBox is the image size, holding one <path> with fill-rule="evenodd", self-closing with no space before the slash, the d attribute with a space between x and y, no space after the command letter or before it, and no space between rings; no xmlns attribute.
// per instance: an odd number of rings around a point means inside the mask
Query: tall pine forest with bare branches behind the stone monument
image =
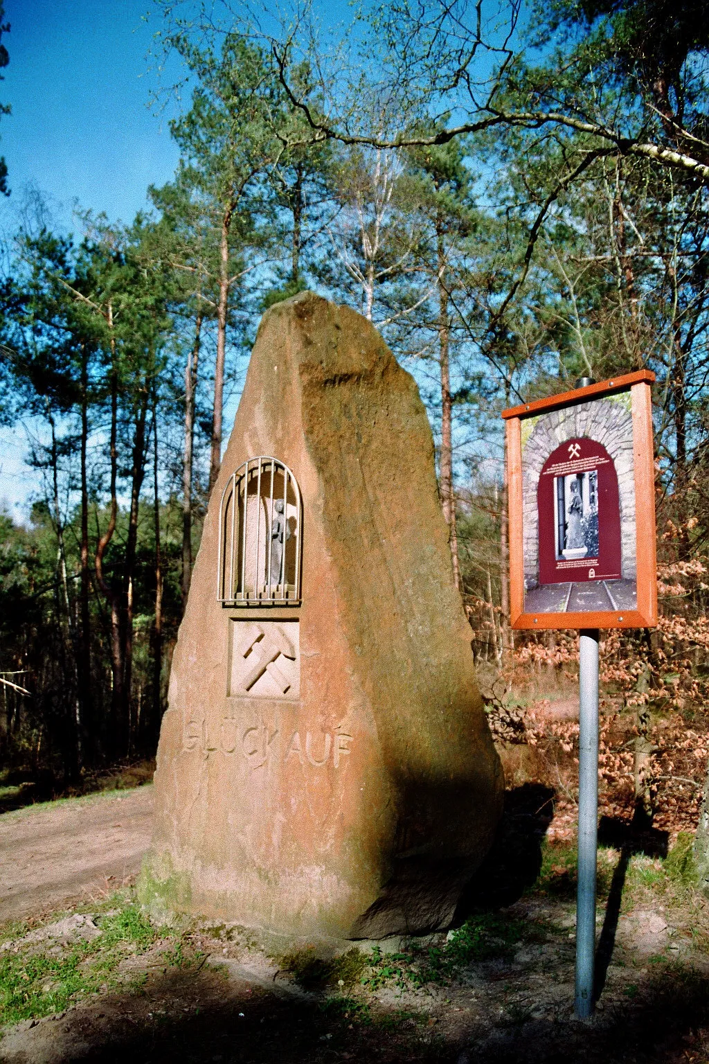
<svg viewBox="0 0 709 1064"><path fill-rule="evenodd" d="M500 412L579 376L656 372L660 624L603 644L603 800L693 830L709 757L702 5L398 0L330 29L307 4L161 0L153 18L153 62L184 72L164 84L173 180L130 225L77 209L72 234L34 194L5 259L0 418L41 426L44 492L28 521L0 513L0 764L61 787L154 753L225 402L261 314L311 288L415 375L508 775L571 805L577 724L544 696L571 689L576 638L509 629Z"/></svg>

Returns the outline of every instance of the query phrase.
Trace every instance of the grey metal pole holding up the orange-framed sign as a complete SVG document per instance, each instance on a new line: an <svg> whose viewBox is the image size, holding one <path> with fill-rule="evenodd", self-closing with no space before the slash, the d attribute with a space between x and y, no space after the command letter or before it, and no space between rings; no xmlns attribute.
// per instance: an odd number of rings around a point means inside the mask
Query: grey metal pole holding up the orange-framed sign
<svg viewBox="0 0 709 1064"><path fill-rule="evenodd" d="M579 1019L593 1014L595 875L598 835L598 630L579 632L578 890L576 1000Z"/></svg>

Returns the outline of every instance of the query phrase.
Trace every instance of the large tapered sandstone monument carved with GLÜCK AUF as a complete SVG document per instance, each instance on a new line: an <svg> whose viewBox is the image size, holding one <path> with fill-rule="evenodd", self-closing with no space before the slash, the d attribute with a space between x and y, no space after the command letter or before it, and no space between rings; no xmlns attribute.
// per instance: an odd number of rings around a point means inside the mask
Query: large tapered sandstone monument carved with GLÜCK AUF
<svg viewBox="0 0 709 1064"><path fill-rule="evenodd" d="M446 532L376 330L274 306L172 660L145 901L292 936L448 926L503 778Z"/></svg>

